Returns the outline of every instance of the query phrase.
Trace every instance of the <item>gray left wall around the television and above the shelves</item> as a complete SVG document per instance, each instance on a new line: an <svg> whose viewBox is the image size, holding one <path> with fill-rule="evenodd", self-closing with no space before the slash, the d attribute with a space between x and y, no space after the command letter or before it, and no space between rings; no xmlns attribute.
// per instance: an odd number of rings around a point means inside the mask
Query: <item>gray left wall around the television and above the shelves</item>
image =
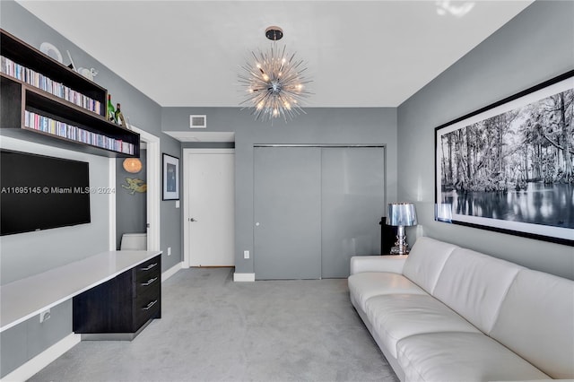
<svg viewBox="0 0 574 382"><path fill-rule="evenodd" d="M108 89L115 102L121 102L122 111L126 117L129 117L129 122L152 135L159 136L161 152L178 156L179 142L161 133L161 107L156 102L11 0L0 2L0 26L33 47L38 48L42 42L48 41L61 52L65 53L69 50L76 65L96 68L99 74L95 82ZM94 33L97 32L94 30ZM67 65L69 63L66 60L67 57L64 61ZM8 147L7 143L9 140L3 137L2 146ZM30 147L29 143L21 142L15 143L15 147L11 148L25 151L26 147ZM109 160L107 158L80 152L54 152L54 150L43 145L36 145L31 149L32 152L64 158L69 155L73 159L89 161L91 186L108 186ZM150 181L160 184L161 175ZM100 197L103 199L100 200ZM109 201L101 195L91 199L90 224L3 237L0 239L1 282L11 282L108 250L108 230ZM172 256L167 256L167 247L171 247ZM163 250L161 262L164 271L181 261L181 214L180 210L175 208L175 204L170 202L161 202L161 249ZM71 317L65 314L52 316L48 321L51 322L49 326L39 326L39 318L32 317L21 325L2 333L0 377L4 377L72 332L71 326L66 324ZM49 334L48 330L51 331ZM13 357L11 356L10 367L8 367L4 364L4 357L12 349L14 350ZM7 351L4 352L5 350Z"/></svg>

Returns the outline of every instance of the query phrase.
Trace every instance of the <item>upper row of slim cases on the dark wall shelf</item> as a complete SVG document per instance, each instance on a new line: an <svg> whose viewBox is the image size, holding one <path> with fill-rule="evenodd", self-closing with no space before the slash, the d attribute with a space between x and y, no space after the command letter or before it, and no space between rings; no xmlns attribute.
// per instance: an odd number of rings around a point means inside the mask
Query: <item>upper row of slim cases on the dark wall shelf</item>
<svg viewBox="0 0 574 382"><path fill-rule="evenodd" d="M13 62L10 58L0 56L0 72L101 115L100 101L92 100L79 91L74 91L60 82L51 80L44 74L39 74L26 66Z"/></svg>

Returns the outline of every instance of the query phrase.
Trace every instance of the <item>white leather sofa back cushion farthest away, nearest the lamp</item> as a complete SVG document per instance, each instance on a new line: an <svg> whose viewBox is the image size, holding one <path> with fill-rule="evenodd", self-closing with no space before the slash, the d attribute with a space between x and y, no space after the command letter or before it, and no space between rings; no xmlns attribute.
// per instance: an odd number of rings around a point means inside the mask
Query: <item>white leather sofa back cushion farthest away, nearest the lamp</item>
<svg viewBox="0 0 574 382"><path fill-rule="evenodd" d="M448 256L457 248L454 244L431 238L418 238L407 257L403 274L423 290L432 294Z"/></svg>

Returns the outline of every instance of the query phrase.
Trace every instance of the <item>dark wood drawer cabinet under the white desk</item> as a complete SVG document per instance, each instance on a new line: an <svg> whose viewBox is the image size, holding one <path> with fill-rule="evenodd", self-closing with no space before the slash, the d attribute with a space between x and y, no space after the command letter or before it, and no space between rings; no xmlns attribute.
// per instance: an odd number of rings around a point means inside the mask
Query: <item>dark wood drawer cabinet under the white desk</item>
<svg viewBox="0 0 574 382"><path fill-rule="evenodd" d="M132 340L161 318L161 256L74 297L74 333L83 340Z"/></svg>

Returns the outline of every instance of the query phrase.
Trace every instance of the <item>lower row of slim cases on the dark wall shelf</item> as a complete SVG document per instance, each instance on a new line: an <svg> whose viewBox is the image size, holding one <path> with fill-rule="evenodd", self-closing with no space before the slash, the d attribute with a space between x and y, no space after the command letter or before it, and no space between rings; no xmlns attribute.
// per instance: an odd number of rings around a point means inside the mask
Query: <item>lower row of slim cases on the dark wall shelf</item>
<svg viewBox="0 0 574 382"><path fill-rule="evenodd" d="M81 127L68 125L55 119L25 110L24 126L50 135L57 135L78 143L90 144L114 152L134 155L134 144L106 135L93 133Z"/></svg>

